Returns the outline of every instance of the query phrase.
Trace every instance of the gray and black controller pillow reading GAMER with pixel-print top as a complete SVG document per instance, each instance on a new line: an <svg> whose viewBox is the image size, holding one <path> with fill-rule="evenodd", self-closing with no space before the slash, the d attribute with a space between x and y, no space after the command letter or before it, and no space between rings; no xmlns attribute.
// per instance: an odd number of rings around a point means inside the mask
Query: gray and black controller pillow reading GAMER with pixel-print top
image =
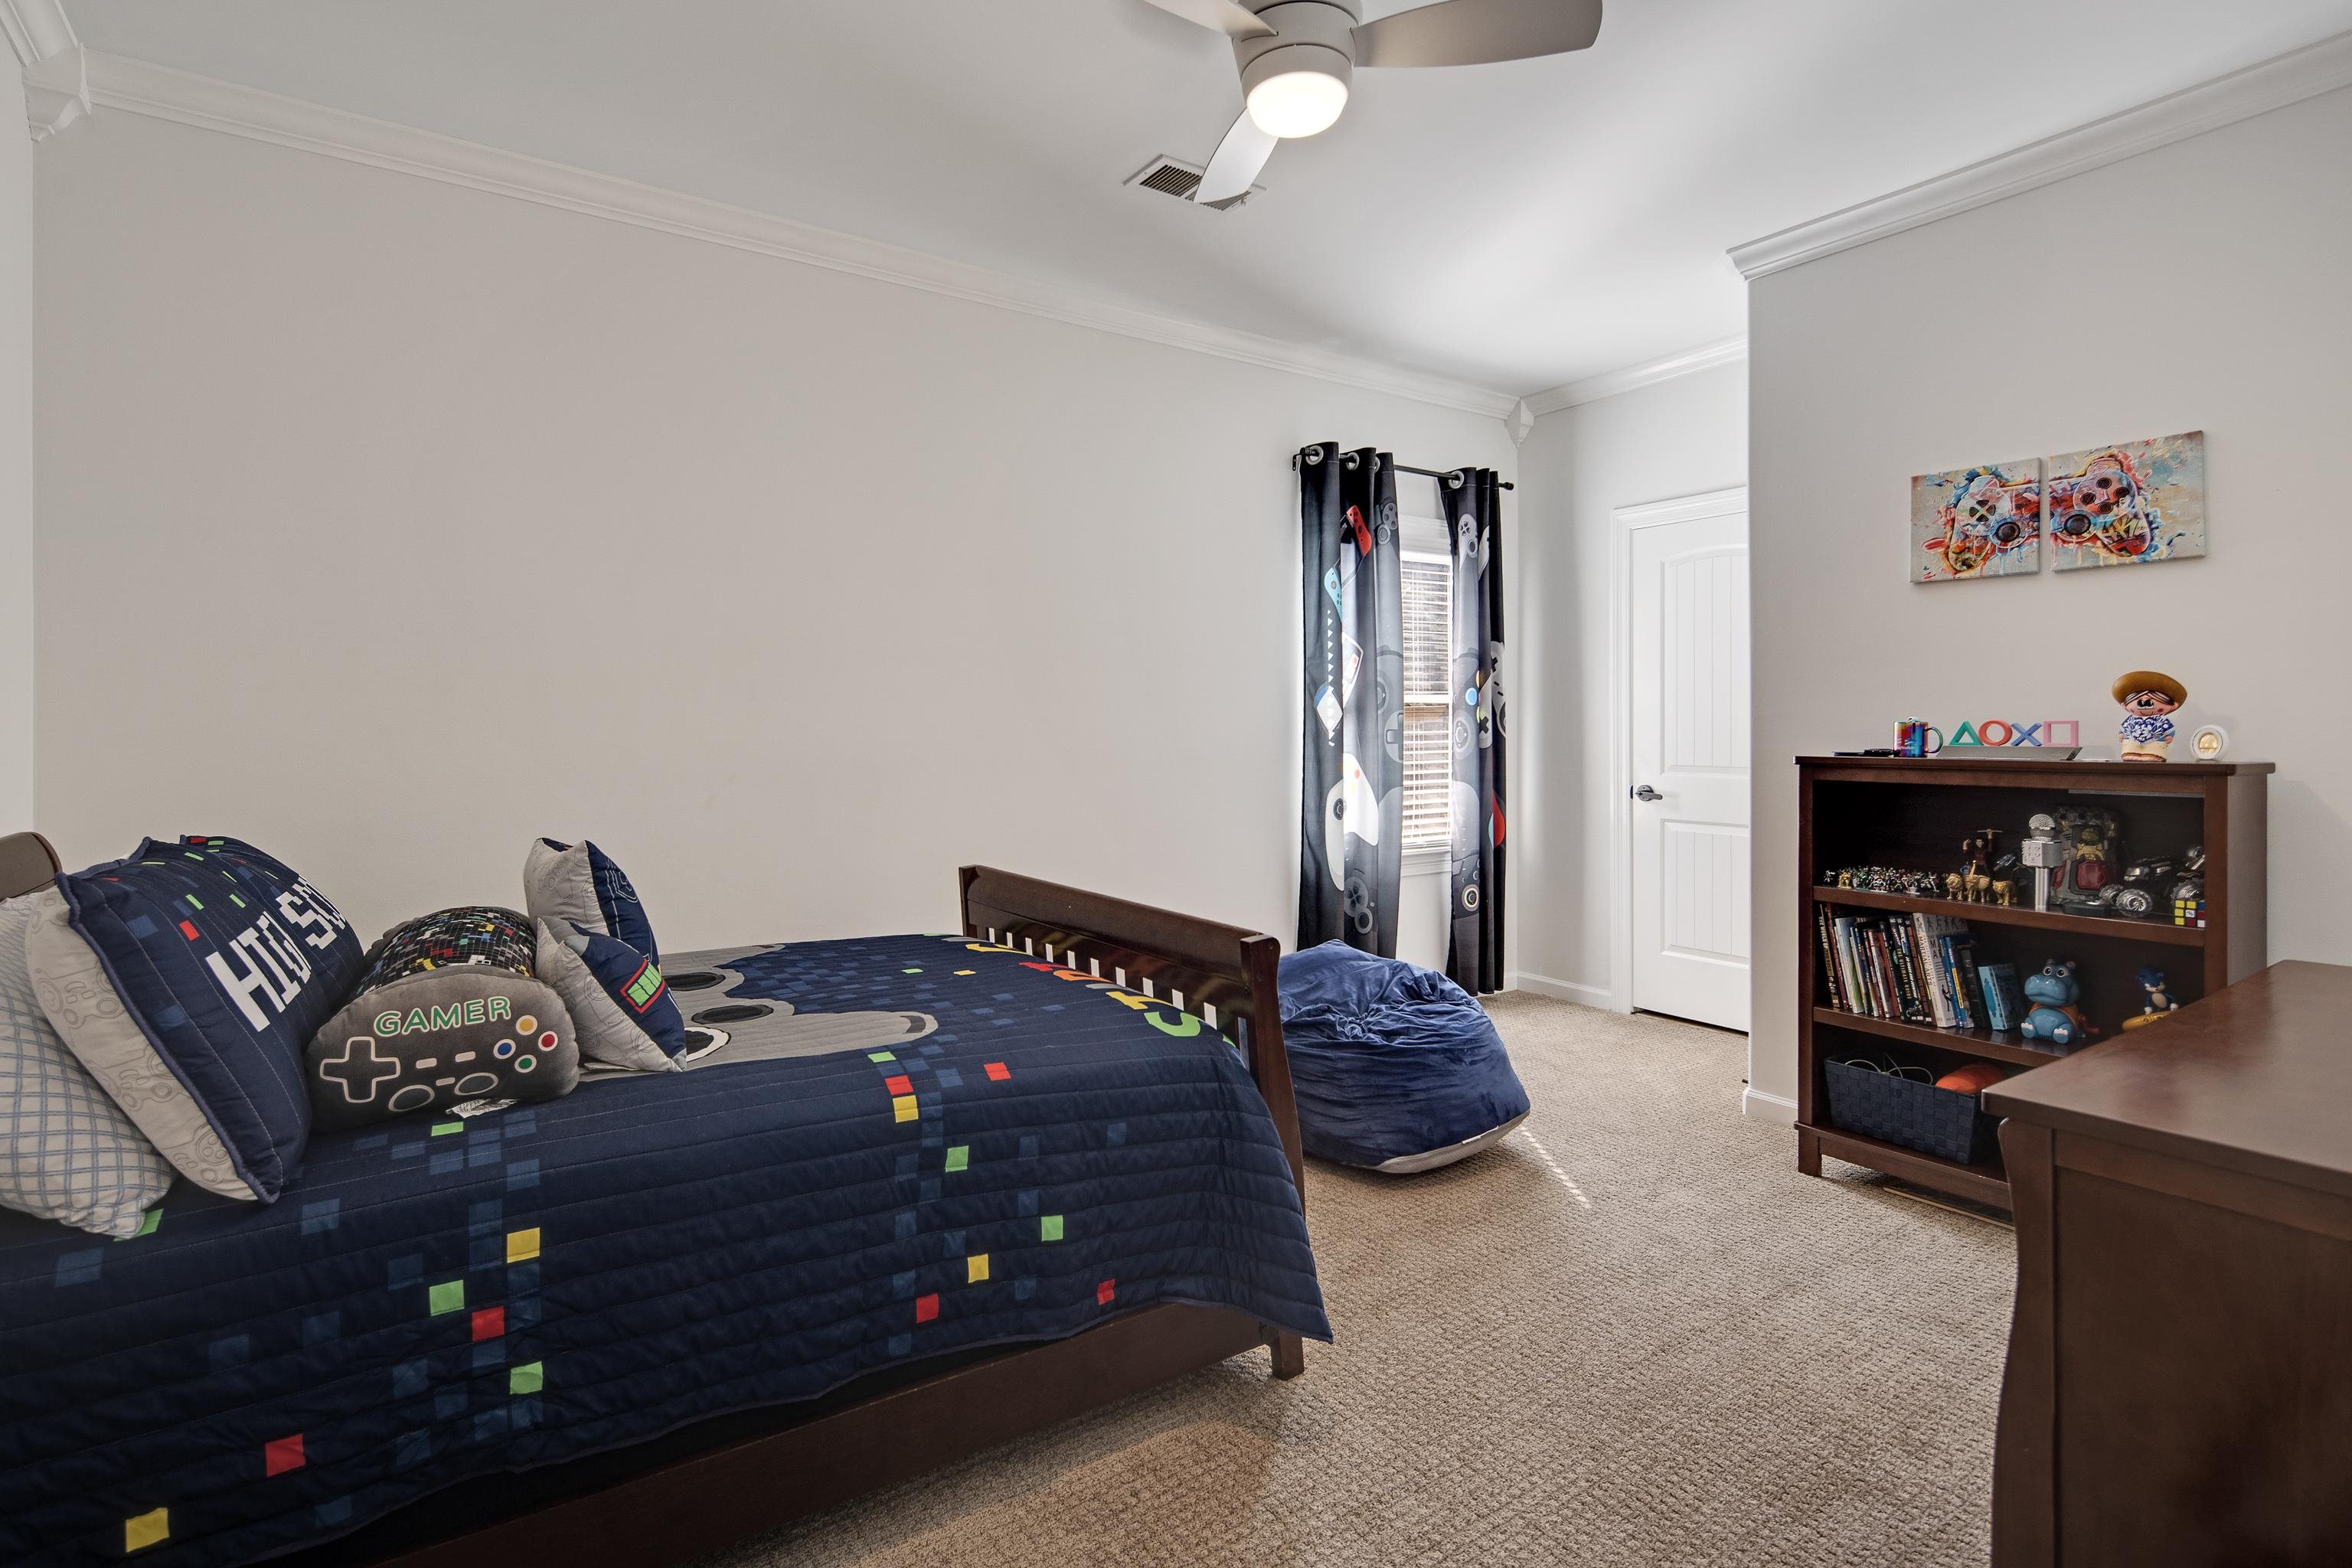
<svg viewBox="0 0 2352 1568"><path fill-rule="evenodd" d="M468 905L393 926L360 992L310 1039L320 1126L463 1100L553 1100L581 1077L572 1013L534 971L532 924Z"/></svg>

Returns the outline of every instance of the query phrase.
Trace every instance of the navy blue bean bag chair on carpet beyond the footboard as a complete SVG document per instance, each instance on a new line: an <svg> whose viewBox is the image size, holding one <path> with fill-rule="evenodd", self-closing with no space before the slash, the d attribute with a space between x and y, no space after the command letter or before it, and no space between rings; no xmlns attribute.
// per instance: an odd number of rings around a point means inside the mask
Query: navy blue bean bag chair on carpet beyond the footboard
<svg viewBox="0 0 2352 1568"><path fill-rule="evenodd" d="M1324 943L1282 959L1282 1046L1308 1154L1406 1173L1526 1121L1526 1088L1470 992L1435 969Z"/></svg>

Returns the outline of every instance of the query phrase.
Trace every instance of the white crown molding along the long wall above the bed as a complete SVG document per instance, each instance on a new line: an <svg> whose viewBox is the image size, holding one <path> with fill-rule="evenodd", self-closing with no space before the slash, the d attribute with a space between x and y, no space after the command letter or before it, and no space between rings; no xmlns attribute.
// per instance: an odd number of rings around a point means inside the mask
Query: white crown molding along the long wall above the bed
<svg viewBox="0 0 2352 1568"><path fill-rule="evenodd" d="M1018 310L1051 322L1091 327L1124 339L1164 343L1190 353L1237 360L1265 369L1336 381L1444 409L1508 418L1517 397L1468 381L1334 355L1303 343L1188 322L1129 306L1070 299L1058 284L948 261L924 252L861 240L814 223L779 219L748 207L729 207L699 195L640 186L637 181L459 141L409 125L369 120L341 108L285 99L120 54L89 52L89 99L151 120L172 120L226 136L268 141L301 153L414 174L445 186L463 186L541 207L579 212L614 223L633 223L687 240L800 261L804 266L894 282L927 294L946 294L981 306Z"/></svg>

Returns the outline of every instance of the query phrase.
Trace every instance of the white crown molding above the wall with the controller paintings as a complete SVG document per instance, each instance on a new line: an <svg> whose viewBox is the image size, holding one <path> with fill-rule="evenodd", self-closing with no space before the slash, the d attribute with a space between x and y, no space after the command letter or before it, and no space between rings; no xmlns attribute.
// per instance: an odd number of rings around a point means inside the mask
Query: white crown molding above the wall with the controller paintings
<svg viewBox="0 0 2352 1568"><path fill-rule="evenodd" d="M2112 162L2152 153L2154 148L2216 132L2239 120L2267 115L2274 108L2317 99L2324 92L2352 87L2352 33L2336 33L2314 45L2279 54L2258 66L2232 71L2197 87L2126 108L2079 125L2011 153L1952 169L1936 179L1905 186L1832 212L1811 223L1783 228L1731 249L1731 266L1757 280L1806 261L1870 244L1907 228L1950 219L1987 202L2051 186L2074 174L2105 169Z"/></svg>

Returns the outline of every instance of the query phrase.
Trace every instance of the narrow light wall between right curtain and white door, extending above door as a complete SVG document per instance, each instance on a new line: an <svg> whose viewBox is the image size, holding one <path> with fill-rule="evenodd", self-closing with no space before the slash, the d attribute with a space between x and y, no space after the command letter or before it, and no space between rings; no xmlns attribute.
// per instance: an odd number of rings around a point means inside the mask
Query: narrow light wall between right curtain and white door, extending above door
<svg viewBox="0 0 2352 1568"><path fill-rule="evenodd" d="M1519 451L1529 616L1512 628L1519 757L1519 980L1609 1004L1613 719L1611 510L1748 482L1748 367L1682 376L1545 414Z"/></svg>

